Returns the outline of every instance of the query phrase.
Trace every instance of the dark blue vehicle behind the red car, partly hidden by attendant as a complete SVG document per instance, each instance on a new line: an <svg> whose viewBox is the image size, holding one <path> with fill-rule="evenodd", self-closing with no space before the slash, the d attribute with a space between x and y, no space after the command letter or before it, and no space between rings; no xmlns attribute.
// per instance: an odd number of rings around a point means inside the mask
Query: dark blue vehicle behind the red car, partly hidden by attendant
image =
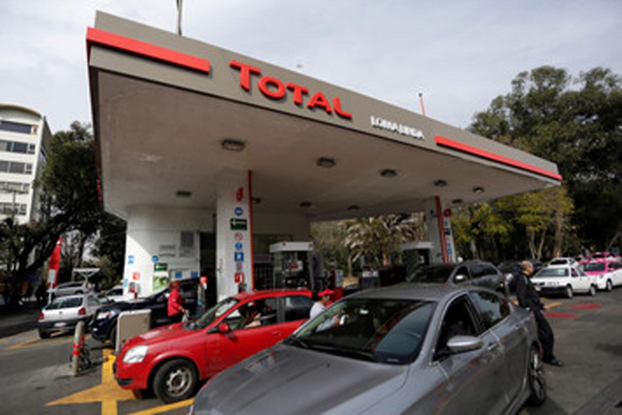
<svg viewBox="0 0 622 415"><path fill-rule="evenodd" d="M184 308L194 313L196 310L196 285L198 279L182 280L180 285L180 294L184 302ZM194 293L194 296L193 296ZM104 343L110 340L115 346L117 338L117 318L123 311L131 310L151 310L150 324L151 328L170 324L171 319L167 312L167 304L169 299L169 289L164 288L149 297L131 301L113 302L107 306L101 307L93 321L91 322L91 335L95 340Z"/></svg>

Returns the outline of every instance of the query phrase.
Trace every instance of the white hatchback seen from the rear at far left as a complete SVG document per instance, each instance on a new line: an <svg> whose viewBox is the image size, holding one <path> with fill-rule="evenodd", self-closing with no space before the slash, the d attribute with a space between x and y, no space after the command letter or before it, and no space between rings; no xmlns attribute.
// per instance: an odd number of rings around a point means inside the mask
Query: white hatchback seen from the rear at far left
<svg viewBox="0 0 622 415"><path fill-rule="evenodd" d="M64 295L56 297L39 313L39 337L50 337L57 331L75 329L79 321L88 324L102 302L97 294Z"/></svg>

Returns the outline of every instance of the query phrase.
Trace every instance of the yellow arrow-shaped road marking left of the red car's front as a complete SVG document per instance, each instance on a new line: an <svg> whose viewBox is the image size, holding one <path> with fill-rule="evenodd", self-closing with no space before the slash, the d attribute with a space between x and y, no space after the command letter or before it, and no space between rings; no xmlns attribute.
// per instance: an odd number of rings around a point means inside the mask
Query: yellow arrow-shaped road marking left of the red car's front
<svg viewBox="0 0 622 415"><path fill-rule="evenodd" d="M112 371L115 356L112 356L110 350L104 350L103 354L104 363L102 365L102 383L100 385L54 400L47 403L46 406L101 402L102 415L117 415L118 401L135 399L131 391L121 389L115 381Z"/></svg>

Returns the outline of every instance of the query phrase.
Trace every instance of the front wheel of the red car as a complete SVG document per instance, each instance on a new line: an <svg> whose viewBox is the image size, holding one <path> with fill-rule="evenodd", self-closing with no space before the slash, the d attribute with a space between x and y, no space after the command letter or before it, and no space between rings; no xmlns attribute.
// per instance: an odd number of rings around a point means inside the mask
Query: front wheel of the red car
<svg viewBox="0 0 622 415"><path fill-rule="evenodd" d="M164 403L184 400L194 394L198 381L194 365L188 360L176 359L164 363L153 378L153 391Z"/></svg>

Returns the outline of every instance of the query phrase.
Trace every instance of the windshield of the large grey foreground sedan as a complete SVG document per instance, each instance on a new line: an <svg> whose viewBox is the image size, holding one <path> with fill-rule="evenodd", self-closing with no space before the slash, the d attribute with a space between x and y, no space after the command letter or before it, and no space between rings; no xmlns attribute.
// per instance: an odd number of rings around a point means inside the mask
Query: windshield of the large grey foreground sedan
<svg viewBox="0 0 622 415"><path fill-rule="evenodd" d="M304 349L404 365L419 355L435 302L342 299L286 340Z"/></svg>

